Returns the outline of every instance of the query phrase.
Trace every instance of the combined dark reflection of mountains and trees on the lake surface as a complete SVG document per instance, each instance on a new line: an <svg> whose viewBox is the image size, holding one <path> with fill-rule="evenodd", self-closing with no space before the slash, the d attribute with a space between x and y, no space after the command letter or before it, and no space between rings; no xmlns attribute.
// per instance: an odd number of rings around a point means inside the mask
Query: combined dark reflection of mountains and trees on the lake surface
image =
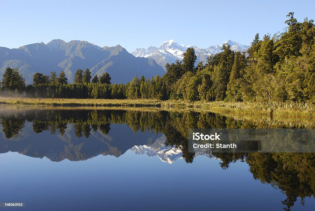
<svg viewBox="0 0 315 211"><path fill-rule="evenodd" d="M33 109L0 111L0 153L16 151L51 161L86 160L97 155L119 157L127 150L174 163L192 163L199 154L188 152L188 128L269 127L214 113L125 111L106 109ZM290 210L297 197L314 197L315 153L211 153L223 169L246 162L255 180L281 189Z"/></svg>

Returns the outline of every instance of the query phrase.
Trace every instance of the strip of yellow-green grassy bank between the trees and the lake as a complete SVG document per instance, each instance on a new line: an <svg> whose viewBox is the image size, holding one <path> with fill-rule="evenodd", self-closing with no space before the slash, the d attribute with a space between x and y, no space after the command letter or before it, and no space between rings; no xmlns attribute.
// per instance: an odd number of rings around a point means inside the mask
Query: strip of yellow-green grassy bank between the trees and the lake
<svg viewBox="0 0 315 211"><path fill-rule="evenodd" d="M108 99L51 99L51 98L0 98L1 105L50 106L110 106L154 107L161 110L191 110L265 117L315 117L315 105L295 102L189 102L181 100L108 100Z"/></svg>

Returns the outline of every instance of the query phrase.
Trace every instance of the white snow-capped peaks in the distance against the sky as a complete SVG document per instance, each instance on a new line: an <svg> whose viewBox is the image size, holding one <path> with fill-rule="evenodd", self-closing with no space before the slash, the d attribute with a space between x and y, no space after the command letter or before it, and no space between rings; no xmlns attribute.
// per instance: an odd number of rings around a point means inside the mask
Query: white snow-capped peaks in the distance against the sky
<svg viewBox="0 0 315 211"><path fill-rule="evenodd" d="M250 45L242 45L238 42L228 40L223 44L229 44L233 51L246 51ZM222 45L223 45L222 44ZM192 45L178 44L175 40L164 41L158 48L150 46L149 48L137 48L131 54L135 57L145 57L154 59L158 65L162 66L164 70L166 63L175 63L176 60L182 60L187 48L194 48L197 56L196 65L198 62L205 62L209 55L222 52L222 45L212 45L209 48L198 48Z"/></svg>

